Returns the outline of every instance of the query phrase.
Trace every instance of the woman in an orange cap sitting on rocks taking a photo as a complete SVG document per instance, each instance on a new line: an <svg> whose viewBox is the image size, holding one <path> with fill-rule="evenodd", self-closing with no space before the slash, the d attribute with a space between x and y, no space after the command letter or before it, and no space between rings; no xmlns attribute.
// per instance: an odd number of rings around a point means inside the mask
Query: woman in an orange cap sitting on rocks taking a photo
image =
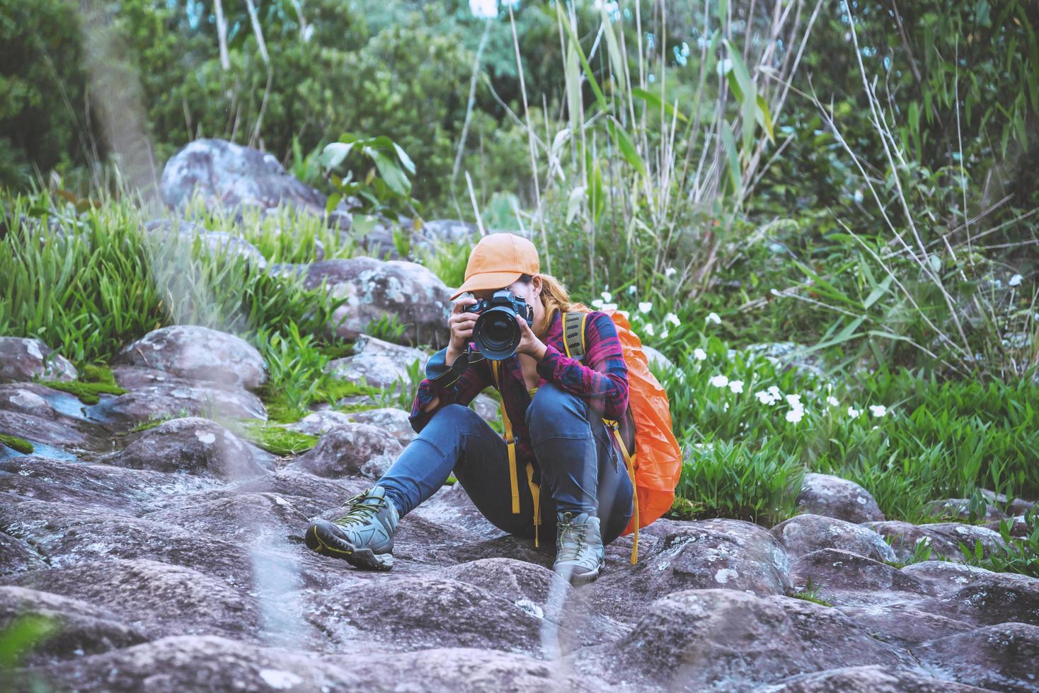
<svg viewBox="0 0 1039 693"><path fill-rule="evenodd" d="M625 418L628 368L610 316L570 303L566 289L538 270L537 249L527 239L494 233L476 244L451 299L467 292L476 298L455 304L450 343L430 357L411 406L419 436L374 487L348 499L344 517L312 523L307 546L357 567L390 570L399 519L454 472L495 526L535 543L555 536L556 573L575 584L598 577L604 546L633 510L628 470L603 421ZM534 318L528 325L516 316L520 345L496 373L471 342L479 315L465 307L501 288L533 306ZM565 356L562 313L569 310L588 312L587 365ZM491 385L511 423L512 449L468 407Z"/></svg>

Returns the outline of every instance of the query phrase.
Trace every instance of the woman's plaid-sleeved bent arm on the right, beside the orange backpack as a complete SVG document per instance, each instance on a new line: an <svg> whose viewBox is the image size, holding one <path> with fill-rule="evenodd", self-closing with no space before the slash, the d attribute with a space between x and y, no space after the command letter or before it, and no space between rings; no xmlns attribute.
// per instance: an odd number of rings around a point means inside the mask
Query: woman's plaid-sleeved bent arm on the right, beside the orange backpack
<svg viewBox="0 0 1039 693"><path fill-rule="evenodd" d="M608 419L628 409L628 366L617 328L606 313L593 310L585 320L585 365L545 344L537 372L563 390L586 397Z"/></svg>

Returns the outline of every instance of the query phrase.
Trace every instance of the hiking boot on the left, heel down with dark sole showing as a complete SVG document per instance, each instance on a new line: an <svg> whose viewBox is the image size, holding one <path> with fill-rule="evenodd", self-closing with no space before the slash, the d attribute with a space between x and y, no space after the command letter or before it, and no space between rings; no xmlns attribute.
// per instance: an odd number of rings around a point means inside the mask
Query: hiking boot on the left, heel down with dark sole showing
<svg viewBox="0 0 1039 693"><path fill-rule="evenodd" d="M307 547L322 556L342 558L369 571L393 569L393 533L397 505L376 486L346 500L349 510L339 520L315 520L307 527Z"/></svg>

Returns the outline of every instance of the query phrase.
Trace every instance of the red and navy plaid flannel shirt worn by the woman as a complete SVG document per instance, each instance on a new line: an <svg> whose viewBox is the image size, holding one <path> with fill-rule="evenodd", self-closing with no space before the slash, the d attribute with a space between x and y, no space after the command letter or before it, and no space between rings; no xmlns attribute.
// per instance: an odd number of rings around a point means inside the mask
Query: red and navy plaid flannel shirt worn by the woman
<svg viewBox="0 0 1039 693"><path fill-rule="evenodd" d="M587 399L589 411L597 412L600 425L606 426L601 417L623 418L628 409L628 366L624 364L617 329L609 315L598 310L588 313L585 321L584 363L566 356L562 312L559 310L555 311L541 341L547 349L544 358L537 364L538 387L544 383L555 383L566 392ZM441 408L450 404L468 406L484 388L495 385L490 364L476 351L475 342L472 350L469 364L460 375L453 372L445 364L447 348L429 358L426 363L426 379L419 385L408 417L416 433L420 433ZM517 355L513 354L502 361L501 378L502 387L499 391L516 439L517 464L523 469L527 462L533 462L537 469L526 423L527 407L532 395L527 389ZM441 398L436 407L428 412L422 411L434 397Z"/></svg>

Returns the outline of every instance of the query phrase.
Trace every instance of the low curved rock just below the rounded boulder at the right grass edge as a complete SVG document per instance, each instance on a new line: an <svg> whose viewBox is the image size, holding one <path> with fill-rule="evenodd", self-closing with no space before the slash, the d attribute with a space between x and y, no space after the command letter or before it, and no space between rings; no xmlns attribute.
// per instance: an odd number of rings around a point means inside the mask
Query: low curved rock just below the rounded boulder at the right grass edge
<svg viewBox="0 0 1039 693"><path fill-rule="evenodd" d="M798 515L772 528L772 534L791 557L819 549L841 549L872 558L895 560L884 537L868 527L821 515Z"/></svg>

